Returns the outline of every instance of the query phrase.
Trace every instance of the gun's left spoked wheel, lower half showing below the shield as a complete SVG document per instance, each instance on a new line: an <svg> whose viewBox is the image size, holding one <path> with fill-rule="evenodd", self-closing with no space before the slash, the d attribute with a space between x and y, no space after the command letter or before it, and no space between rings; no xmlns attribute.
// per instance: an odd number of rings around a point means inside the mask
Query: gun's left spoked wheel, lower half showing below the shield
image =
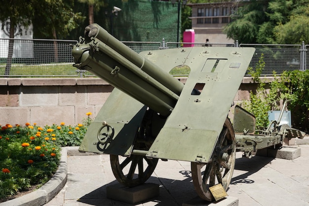
<svg viewBox="0 0 309 206"><path fill-rule="evenodd" d="M110 159L114 176L119 183L127 187L134 187L146 182L158 162L158 159L149 159L141 155L131 155L130 157L110 155Z"/></svg>

